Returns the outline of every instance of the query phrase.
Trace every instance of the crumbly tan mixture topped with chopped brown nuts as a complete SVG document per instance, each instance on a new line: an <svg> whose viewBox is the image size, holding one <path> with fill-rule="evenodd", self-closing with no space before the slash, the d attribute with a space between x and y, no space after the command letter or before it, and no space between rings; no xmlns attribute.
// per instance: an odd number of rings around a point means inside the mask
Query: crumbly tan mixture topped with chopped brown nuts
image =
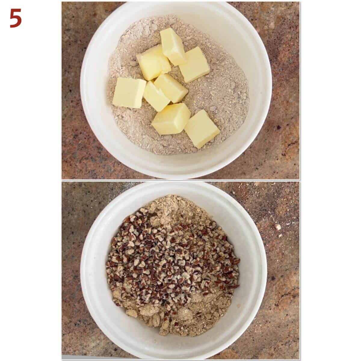
<svg viewBox="0 0 361 361"><path fill-rule="evenodd" d="M126 217L106 274L113 301L160 335L197 336L229 308L239 259L204 209L168 195Z"/></svg>

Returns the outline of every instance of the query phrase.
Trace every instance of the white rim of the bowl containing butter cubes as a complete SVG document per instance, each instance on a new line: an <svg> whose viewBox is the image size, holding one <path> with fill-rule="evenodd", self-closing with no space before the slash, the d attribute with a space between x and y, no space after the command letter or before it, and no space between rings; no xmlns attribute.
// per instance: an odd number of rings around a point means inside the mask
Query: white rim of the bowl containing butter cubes
<svg viewBox="0 0 361 361"><path fill-rule="evenodd" d="M86 82L85 82L85 76L86 76L86 70L87 70L87 62L88 59L90 57L90 52L91 49L95 46L95 43L97 41L97 39L100 36L100 32L101 30L110 22L113 20L113 18L116 18L118 16L118 12L120 11L126 11L128 8L130 7L134 7L134 6L140 6L140 5L144 5L147 3L126 3L123 4L121 6L119 6L116 10L114 10L102 23L101 25L98 27L98 29L95 31L94 35L92 36L87 50L84 54L84 58L83 58L83 62L82 62L82 68L81 68L81 75L80 75L80 93L81 93L81 101L82 101L82 106L83 106L83 110L84 110L84 114L86 116L86 119L88 121L88 124L92 130L92 132L94 133L95 137L97 138L97 140L100 142L100 144L106 149L106 151L108 151L117 161L121 162L122 164L126 165L127 167L138 171L142 174L145 175L149 175L151 177L156 177L156 178L163 178L163 179L192 179L192 178L197 178L197 177L203 177L204 175L208 175L210 173L213 173L223 167L225 167L226 165L230 164L232 161L234 161L236 158L238 158L255 140L256 136L258 135L258 133L260 132L265 119L267 117L268 111L269 111L269 107L270 107L270 103L271 103L271 96L272 96L272 72L271 72L271 65L270 65L270 61L269 61L269 57L268 57L268 53L267 50L265 48L264 43L262 42L262 39L260 37L260 35L258 34L258 32L256 31L256 29L253 27L253 25L251 24L251 22L248 21L248 19L237 9L235 9L232 5L226 3L226 2L219 2L219 3L209 3L210 6L214 6L214 5L218 5L221 8L223 8L224 10L230 11L231 13L233 13L234 15L236 15L240 21L242 21L248 28L249 30L253 33L253 35L255 36L255 41L258 45L258 47L261 49L261 53L262 53L262 57L264 58L263 60L265 61L266 64L266 78L265 78L265 82L266 82L266 86L265 86L265 92L266 92L266 102L264 105L264 109L262 111L262 114L259 118L259 121L256 124L255 129L252 131L251 136L248 138L247 142L244 143L244 145L242 147L239 147L239 149L237 149L237 151L235 151L234 153L232 153L231 155L229 155L227 158L225 158L223 161L219 162L218 164L214 165L214 166L210 166L207 169L201 170L201 171L193 171L191 173L184 173L182 175L182 177L178 176L174 176L173 174L167 174L164 171L153 171L153 170L149 170L149 169L144 169L142 166L139 165L134 165L132 164L131 161L129 161L127 159L127 157L123 157L123 156L119 156L119 154L115 155L113 151L110 150L110 147L108 147L108 144L104 144L101 140L100 140L100 136L99 134L96 134L94 127L92 126L92 115L91 112L88 108L88 104L86 102Z"/></svg>

